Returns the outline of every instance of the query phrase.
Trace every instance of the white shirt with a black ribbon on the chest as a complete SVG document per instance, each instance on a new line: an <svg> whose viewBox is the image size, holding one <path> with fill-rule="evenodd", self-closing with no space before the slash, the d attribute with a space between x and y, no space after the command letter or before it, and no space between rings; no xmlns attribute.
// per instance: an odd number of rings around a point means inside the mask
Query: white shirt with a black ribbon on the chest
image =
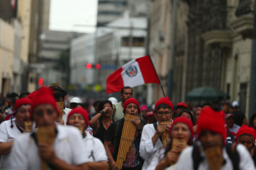
<svg viewBox="0 0 256 170"><path fill-rule="evenodd" d="M84 138L85 144L85 154L86 158L90 162L100 162L108 161L108 157L102 144L101 140L91 136L89 132L86 132L86 137Z"/></svg>

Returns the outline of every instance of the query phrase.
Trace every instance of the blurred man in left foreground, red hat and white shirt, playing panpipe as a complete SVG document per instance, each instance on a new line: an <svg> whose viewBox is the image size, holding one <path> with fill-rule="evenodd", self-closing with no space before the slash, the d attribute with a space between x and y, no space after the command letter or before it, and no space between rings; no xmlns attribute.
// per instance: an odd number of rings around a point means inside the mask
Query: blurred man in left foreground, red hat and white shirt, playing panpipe
<svg viewBox="0 0 256 170"><path fill-rule="evenodd" d="M53 90L41 87L31 104L37 130L14 142L8 169L87 169L85 145L75 127L58 125L59 109Z"/></svg>

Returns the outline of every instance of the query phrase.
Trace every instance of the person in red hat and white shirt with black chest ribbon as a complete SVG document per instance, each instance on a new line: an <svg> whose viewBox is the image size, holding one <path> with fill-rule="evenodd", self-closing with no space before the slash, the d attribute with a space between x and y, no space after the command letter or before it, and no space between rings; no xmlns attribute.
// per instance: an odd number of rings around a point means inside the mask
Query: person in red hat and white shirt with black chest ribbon
<svg viewBox="0 0 256 170"><path fill-rule="evenodd" d="M75 126L81 130L84 137L85 154L89 162L86 163L87 167L92 170L107 170L108 157L101 140L94 138L85 131L89 125L89 116L87 111L82 108L75 108L71 110L66 121L67 125Z"/></svg>

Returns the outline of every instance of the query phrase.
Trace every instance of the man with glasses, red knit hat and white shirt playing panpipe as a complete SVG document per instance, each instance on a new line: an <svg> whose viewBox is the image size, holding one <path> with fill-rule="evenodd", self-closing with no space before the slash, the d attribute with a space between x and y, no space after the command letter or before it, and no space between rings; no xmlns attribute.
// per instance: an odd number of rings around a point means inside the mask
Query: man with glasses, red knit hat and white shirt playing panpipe
<svg viewBox="0 0 256 170"><path fill-rule="evenodd" d="M168 143L168 132L171 127L174 108L168 97L160 98L154 107L154 116L157 123L144 126L140 143L140 155L144 159L142 169L154 170L158 164L157 150ZM163 139L164 138L164 139Z"/></svg>

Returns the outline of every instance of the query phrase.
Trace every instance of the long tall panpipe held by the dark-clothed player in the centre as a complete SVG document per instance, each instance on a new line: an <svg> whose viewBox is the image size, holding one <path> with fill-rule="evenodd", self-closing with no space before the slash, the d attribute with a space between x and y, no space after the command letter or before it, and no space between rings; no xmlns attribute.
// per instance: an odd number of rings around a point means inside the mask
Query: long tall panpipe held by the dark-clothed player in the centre
<svg viewBox="0 0 256 170"><path fill-rule="evenodd" d="M138 118L138 116L130 114L125 115L125 122L121 134L118 156L116 159L116 166L119 169L122 169L123 163L126 160L127 152L129 151L135 137L136 125L131 122L131 120L134 118Z"/></svg>

